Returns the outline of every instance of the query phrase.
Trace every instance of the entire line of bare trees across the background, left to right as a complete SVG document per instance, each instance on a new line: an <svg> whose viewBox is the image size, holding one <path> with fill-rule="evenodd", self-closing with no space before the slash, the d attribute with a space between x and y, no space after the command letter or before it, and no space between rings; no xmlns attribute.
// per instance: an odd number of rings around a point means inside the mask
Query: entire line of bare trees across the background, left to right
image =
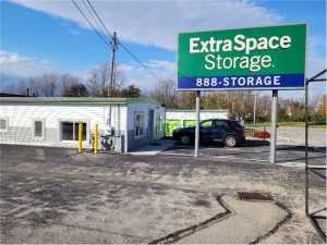
<svg viewBox="0 0 327 245"><path fill-rule="evenodd" d="M104 64L90 72L90 75L82 81L80 77L66 74L48 73L37 77L29 77L16 86L11 86L8 91L26 94L39 97L140 97L149 96L168 109L195 109L195 93L178 91L173 79L160 79L154 89L147 94L141 91L135 85L128 85L123 73L118 70L114 86L111 87L110 69ZM315 98L308 107L311 121L326 122L326 98ZM255 91L203 91L202 109L217 110L226 109L229 117L239 121L252 122L254 115L254 103L256 100L256 122L270 120L271 97ZM305 103L295 99L278 99L278 119L280 121L304 121Z"/></svg>

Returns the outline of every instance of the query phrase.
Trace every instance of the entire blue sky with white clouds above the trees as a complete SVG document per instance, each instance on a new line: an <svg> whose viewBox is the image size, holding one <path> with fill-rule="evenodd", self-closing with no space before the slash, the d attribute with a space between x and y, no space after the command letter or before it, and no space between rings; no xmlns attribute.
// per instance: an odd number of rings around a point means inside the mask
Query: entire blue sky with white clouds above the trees
<svg viewBox="0 0 327 245"><path fill-rule="evenodd" d="M308 75L326 66L323 0L92 2L108 29L116 30L120 40L158 77L175 77L178 32L280 23L308 23ZM81 1L77 3L84 7ZM71 1L1 0L2 77L70 72L85 78L92 69L109 60L108 48ZM130 83L148 88L156 78L121 48L118 63Z"/></svg>

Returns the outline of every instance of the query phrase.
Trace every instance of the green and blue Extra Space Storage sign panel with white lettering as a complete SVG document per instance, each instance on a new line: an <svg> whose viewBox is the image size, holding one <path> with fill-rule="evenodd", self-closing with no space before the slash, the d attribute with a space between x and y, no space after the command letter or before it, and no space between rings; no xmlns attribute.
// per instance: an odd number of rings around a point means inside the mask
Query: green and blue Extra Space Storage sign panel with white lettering
<svg viewBox="0 0 327 245"><path fill-rule="evenodd" d="M182 33L181 90L303 89L306 25Z"/></svg>

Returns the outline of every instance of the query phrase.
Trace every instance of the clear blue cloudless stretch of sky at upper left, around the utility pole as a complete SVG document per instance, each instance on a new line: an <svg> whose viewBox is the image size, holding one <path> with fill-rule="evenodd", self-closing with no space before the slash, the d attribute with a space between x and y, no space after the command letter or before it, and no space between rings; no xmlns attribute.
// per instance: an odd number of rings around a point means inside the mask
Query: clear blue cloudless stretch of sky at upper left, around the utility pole
<svg viewBox="0 0 327 245"><path fill-rule="evenodd" d="M77 11L77 10L76 10ZM83 70L107 62L111 53L98 36L75 22L51 16L11 2L2 2L2 49L24 57L48 60L59 71ZM126 42L143 61L160 59L173 61L166 49ZM118 62L131 58L119 50Z"/></svg>

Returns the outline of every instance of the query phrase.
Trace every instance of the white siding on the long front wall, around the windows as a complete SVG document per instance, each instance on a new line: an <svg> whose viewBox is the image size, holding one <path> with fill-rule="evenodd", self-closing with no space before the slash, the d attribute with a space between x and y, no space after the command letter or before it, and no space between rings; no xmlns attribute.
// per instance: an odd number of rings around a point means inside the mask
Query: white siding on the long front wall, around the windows
<svg viewBox="0 0 327 245"><path fill-rule="evenodd" d="M0 115L8 118L8 132L0 132L0 143L76 147L75 142L60 140L60 121L83 121L87 123L85 147L90 147L90 133L98 123L100 133L108 128L108 106L39 106L39 105L0 105ZM45 123L45 137L33 137L34 120ZM123 135L126 123L126 107L112 106L112 126Z"/></svg>

